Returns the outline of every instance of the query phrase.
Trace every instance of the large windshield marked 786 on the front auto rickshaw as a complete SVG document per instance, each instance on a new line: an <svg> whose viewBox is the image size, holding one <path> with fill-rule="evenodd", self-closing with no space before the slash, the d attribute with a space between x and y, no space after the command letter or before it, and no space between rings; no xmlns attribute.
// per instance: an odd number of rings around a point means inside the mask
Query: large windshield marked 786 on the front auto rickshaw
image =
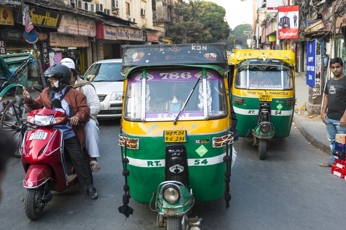
<svg viewBox="0 0 346 230"><path fill-rule="evenodd" d="M174 120L188 98L198 78L200 82L180 114L179 120L202 120L227 116L227 95L220 74L207 70L206 94L203 95L201 70L147 71L145 95L142 95L142 73L129 76L124 118L142 118L142 98L145 98L146 121ZM143 97L144 96L144 97ZM204 109L204 97L207 108Z"/></svg>

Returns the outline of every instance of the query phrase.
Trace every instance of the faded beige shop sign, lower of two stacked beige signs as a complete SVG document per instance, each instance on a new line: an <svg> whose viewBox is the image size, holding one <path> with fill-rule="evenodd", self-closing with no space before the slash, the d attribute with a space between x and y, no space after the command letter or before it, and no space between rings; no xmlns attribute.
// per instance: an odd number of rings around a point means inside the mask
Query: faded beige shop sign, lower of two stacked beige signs
<svg viewBox="0 0 346 230"><path fill-rule="evenodd" d="M51 32L49 41L56 47L89 47L88 37Z"/></svg>

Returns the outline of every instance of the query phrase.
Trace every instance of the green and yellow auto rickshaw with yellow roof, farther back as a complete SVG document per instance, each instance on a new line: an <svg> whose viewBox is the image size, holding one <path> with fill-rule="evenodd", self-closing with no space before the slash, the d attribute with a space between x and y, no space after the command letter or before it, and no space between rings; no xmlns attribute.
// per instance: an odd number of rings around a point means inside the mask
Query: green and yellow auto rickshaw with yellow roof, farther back
<svg viewBox="0 0 346 230"><path fill-rule="evenodd" d="M295 105L294 52L235 50L228 63L233 70L231 103L239 136L253 136L253 146L264 160L269 140L290 134Z"/></svg>

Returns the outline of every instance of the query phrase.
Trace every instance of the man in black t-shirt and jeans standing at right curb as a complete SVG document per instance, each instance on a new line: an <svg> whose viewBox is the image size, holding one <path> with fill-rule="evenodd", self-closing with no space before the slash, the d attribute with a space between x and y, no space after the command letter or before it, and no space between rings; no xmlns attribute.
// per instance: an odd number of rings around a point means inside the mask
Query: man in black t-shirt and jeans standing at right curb
<svg viewBox="0 0 346 230"><path fill-rule="evenodd" d="M346 77L343 73L343 60L341 58L331 59L330 70L333 72L334 78L327 82L324 91L322 121L326 124L331 156L328 163L320 163L320 166L324 167L331 167L331 165L335 164L333 156L335 134L346 133Z"/></svg>

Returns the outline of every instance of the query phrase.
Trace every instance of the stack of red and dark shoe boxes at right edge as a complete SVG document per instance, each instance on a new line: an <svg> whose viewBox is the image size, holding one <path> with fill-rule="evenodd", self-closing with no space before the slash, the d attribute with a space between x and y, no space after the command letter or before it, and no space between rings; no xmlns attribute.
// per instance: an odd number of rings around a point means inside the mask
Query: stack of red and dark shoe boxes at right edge
<svg viewBox="0 0 346 230"><path fill-rule="evenodd" d="M331 174L346 180L346 134L335 135L333 152L335 165L331 166Z"/></svg>

